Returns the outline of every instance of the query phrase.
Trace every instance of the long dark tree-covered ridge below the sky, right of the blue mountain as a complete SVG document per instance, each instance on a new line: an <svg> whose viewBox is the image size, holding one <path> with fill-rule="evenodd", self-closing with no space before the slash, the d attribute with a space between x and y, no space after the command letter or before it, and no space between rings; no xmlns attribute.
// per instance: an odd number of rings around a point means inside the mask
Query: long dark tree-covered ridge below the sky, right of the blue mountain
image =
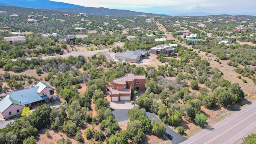
<svg viewBox="0 0 256 144"><path fill-rule="evenodd" d="M73 13L84 13L90 15L98 15L98 16L138 16L138 15L146 15L146 16L160 16L160 14L152 14L145 12L134 12L131 10L116 10L109 8L93 8L93 7L82 7L82 8L54 8L51 10L61 11L61 12L73 12Z"/></svg>

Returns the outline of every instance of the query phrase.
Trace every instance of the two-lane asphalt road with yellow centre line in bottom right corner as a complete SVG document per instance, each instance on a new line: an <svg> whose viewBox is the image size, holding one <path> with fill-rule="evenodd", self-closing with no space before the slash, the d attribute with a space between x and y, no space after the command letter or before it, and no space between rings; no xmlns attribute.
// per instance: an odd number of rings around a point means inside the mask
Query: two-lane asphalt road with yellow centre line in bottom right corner
<svg viewBox="0 0 256 144"><path fill-rule="evenodd" d="M256 102L204 129L181 144L241 144L242 138L256 132Z"/></svg>

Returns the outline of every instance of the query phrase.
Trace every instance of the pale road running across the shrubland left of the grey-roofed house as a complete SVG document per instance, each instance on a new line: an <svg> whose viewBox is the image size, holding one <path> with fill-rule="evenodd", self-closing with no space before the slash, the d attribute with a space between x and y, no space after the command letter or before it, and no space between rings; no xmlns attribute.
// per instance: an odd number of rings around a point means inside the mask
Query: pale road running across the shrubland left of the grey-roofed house
<svg viewBox="0 0 256 144"><path fill-rule="evenodd" d="M58 55L58 56L61 56L61 57L69 57L69 56L79 56L79 55L82 55L82 56L91 56L93 54L96 54L97 52L105 52L105 51L108 51L108 50L111 50L111 48L108 48L108 49L104 49L104 50L95 50L95 51L79 51L79 52L69 52L67 54L62 54L62 55ZM55 58L57 56L42 56L43 59L47 59L47 58ZM26 58L27 60L31 60L31 58ZM13 61L16 61L17 59L12 59Z"/></svg>

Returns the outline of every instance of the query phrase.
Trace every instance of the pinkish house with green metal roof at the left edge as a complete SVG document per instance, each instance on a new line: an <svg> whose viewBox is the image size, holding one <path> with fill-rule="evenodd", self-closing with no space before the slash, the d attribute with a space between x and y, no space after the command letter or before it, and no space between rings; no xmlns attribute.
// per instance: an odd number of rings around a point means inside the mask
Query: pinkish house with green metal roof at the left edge
<svg viewBox="0 0 256 144"><path fill-rule="evenodd" d="M50 99L56 100L54 88L44 82L39 82L32 88L10 92L0 101L0 113L3 118L8 118L21 114L25 106L33 106L38 103L48 102Z"/></svg>

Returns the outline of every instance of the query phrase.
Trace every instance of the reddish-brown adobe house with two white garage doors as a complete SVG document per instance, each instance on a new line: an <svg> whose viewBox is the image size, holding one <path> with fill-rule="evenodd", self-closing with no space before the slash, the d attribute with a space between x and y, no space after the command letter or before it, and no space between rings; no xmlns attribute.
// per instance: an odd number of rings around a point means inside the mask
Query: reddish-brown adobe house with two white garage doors
<svg viewBox="0 0 256 144"><path fill-rule="evenodd" d="M146 89L146 77L144 75L126 74L111 82L111 102L120 100L132 100L132 91Z"/></svg>

